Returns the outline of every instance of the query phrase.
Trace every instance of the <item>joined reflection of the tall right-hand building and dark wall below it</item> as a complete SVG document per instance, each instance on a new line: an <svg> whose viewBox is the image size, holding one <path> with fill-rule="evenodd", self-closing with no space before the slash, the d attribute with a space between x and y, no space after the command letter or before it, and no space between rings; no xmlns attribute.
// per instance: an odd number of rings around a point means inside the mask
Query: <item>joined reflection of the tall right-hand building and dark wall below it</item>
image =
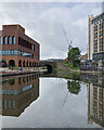
<svg viewBox="0 0 104 130"><path fill-rule="evenodd" d="M104 128L104 75L80 75L88 90L88 122Z"/></svg>

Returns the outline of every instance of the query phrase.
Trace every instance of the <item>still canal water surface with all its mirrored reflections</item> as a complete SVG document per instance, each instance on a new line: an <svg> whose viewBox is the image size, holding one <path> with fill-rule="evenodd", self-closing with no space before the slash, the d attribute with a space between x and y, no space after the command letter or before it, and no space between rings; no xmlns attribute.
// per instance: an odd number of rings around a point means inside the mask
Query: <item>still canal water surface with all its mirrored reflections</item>
<svg viewBox="0 0 104 130"><path fill-rule="evenodd" d="M103 128L102 84L83 75L80 80L38 74L5 77L0 82L2 127Z"/></svg>

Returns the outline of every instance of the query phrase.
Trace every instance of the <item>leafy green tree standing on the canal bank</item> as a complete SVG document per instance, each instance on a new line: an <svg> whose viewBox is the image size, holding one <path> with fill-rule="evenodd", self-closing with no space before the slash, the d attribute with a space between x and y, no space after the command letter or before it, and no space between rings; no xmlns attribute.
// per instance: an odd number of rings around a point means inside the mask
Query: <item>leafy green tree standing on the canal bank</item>
<svg viewBox="0 0 104 130"><path fill-rule="evenodd" d="M67 60L73 63L74 66L78 66L80 63L80 50L79 48L72 48L68 52Z"/></svg>

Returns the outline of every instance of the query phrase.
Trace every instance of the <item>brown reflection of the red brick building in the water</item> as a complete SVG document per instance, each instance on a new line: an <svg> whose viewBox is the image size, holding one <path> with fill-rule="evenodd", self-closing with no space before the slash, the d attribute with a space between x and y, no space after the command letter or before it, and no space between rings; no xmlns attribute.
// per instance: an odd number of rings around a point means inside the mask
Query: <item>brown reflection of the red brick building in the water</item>
<svg viewBox="0 0 104 130"><path fill-rule="evenodd" d="M25 75L1 82L2 116L20 116L39 96L38 75Z"/></svg>

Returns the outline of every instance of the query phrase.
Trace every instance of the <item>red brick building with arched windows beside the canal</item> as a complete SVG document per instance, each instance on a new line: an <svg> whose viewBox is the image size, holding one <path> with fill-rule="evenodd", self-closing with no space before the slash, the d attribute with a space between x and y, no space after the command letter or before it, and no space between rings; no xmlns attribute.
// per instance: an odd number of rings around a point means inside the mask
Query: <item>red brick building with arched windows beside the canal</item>
<svg viewBox="0 0 104 130"><path fill-rule="evenodd" d="M23 68L39 67L40 46L25 35L21 25L2 25L0 30L0 65Z"/></svg>

